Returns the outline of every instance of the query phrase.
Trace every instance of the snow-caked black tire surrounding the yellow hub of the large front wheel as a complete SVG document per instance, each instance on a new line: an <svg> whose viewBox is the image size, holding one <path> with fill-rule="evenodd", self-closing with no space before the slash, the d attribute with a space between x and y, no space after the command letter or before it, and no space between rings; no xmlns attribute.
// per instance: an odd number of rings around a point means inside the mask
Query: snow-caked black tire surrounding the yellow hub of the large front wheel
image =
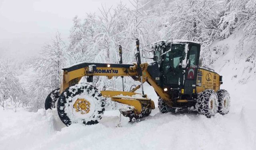
<svg viewBox="0 0 256 150"><path fill-rule="evenodd" d="M86 114L88 118L77 118L77 116L75 116L76 113L80 113L76 112L72 105L72 102L74 103L77 100L76 96L79 96L79 98L88 96L91 98L91 106L92 102L95 104L95 110L90 110L90 112L92 111L92 114L89 117L89 114ZM88 97L86 100L88 100ZM106 98L101 95L97 88L90 84L80 83L70 86L62 92L57 102L57 111L60 120L62 120L66 126L70 126L74 123L82 123L85 125L98 124L105 111L105 102Z"/></svg>

